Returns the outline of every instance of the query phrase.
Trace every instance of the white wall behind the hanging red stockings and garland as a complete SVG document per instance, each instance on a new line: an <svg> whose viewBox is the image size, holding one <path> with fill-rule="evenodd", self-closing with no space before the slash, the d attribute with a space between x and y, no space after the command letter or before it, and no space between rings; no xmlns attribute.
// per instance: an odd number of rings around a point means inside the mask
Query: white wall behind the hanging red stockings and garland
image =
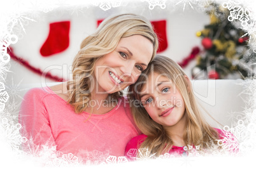
<svg viewBox="0 0 256 170"><path fill-rule="evenodd" d="M115 13L128 12L146 16L150 21L167 20L168 48L159 54L169 56L176 62L181 62L183 58L187 57L194 46L201 46L201 38L196 37L196 31L202 30L204 25L210 22L209 16L204 14L203 11L199 12L188 7L183 11L183 8L174 6L167 6L164 10L159 6L155 6L153 10L149 10L148 3L146 2L139 3L139 6L136 4L127 4L127 6L111 8L108 11L103 11L98 6L91 6L88 9L78 9L75 12L66 8L53 10L48 13L41 12L38 14L31 12L27 16L34 18L36 22L30 21L29 24L24 25L25 33L23 33L23 38L19 39L17 44L14 44L12 48L15 54L25 58L34 67L45 70L53 65L58 65L63 70L56 67L56 69L52 70L53 75L68 77L70 72L67 72L67 70L79 49L80 42L83 38L94 32L96 29L96 20L106 18ZM39 54L39 49L48 36L48 24L62 20L71 20L69 48L50 58L43 58ZM11 73L8 74L7 82L11 82L11 79L13 79L15 84L19 82L21 84L41 82L39 75L34 74L23 65L14 61L10 63ZM195 61L191 62L185 68L185 72L189 76L190 70L194 65ZM52 82L50 79L46 79L46 81Z"/></svg>

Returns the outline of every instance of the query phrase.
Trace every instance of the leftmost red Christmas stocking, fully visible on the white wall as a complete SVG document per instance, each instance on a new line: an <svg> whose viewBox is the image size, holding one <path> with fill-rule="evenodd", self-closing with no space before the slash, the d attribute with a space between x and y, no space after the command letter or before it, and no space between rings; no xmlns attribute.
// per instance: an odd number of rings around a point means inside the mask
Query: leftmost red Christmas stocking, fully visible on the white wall
<svg viewBox="0 0 256 170"><path fill-rule="evenodd" d="M69 26L69 21L50 23L49 35L40 49L42 56L54 55L68 48Z"/></svg>

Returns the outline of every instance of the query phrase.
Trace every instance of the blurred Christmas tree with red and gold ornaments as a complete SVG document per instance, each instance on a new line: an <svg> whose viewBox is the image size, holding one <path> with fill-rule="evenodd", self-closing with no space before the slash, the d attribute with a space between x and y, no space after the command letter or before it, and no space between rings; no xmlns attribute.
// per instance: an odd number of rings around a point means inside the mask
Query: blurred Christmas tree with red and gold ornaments
<svg viewBox="0 0 256 170"><path fill-rule="evenodd" d="M256 53L248 47L250 37L241 29L240 22L227 20L229 10L215 3L210 6L211 10L206 11L210 15L210 24L196 32L196 35L202 39L204 50L196 57L197 63L192 69L192 77L194 79L253 77Z"/></svg>

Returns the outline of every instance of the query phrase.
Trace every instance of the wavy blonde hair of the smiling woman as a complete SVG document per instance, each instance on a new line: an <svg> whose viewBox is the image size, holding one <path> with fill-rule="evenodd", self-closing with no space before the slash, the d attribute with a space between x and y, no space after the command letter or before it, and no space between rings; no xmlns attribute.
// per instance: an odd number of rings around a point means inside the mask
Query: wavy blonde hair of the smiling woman
<svg viewBox="0 0 256 170"><path fill-rule="evenodd" d="M159 43L153 31L152 24L143 16L135 14L115 15L103 20L96 32L86 37L80 45L80 51L73 60L73 80L68 81L69 100L76 113L83 112L91 100L90 88L93 87L91 75L98 58L111 53L123 37L141 35L153 44L153 56L157 52ZM152 60L151 58L151 60ZM122 91L110 94L110 98L117 99Z"/></svg>

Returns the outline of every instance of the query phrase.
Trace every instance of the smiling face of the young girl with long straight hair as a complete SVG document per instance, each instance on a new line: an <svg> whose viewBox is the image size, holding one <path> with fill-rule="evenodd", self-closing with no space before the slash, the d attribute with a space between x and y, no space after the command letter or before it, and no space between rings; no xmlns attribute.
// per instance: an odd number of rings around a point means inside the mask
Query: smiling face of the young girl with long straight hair
<svg viewBox="0 0 256 170"><path fill-rule="evenodd" d="M183 97L165 75L150 74L139 96L153 121L164 127L185 125Z"/></svg>

